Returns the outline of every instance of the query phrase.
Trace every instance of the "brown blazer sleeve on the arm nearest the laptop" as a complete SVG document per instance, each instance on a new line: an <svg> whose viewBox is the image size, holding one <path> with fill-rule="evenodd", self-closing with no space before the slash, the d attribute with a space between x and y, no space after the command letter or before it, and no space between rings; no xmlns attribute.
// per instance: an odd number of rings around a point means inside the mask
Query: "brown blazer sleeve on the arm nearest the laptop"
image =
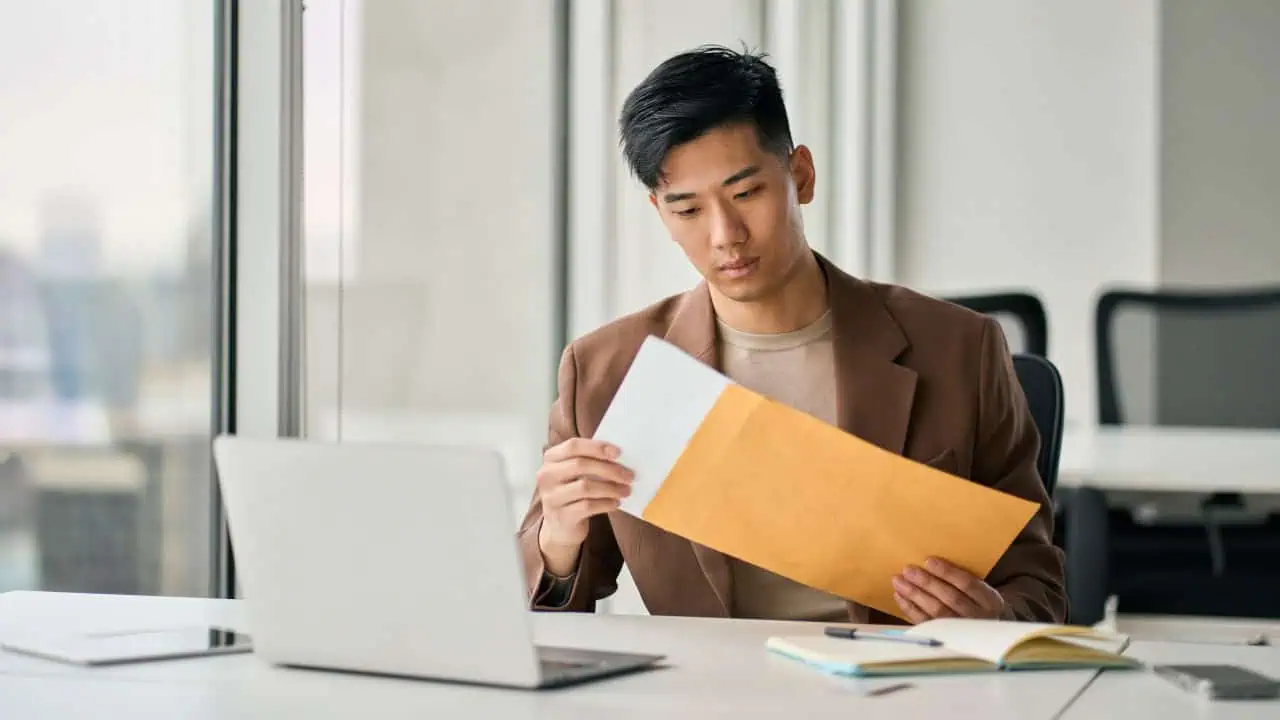
<svg viewBox="0 0 1280 720"><path fill-rule="evenodd" d="M573 346L564 348L561 356L559 389L552 405L548 420L547 446L550 448L568 438L577 437L575 401L577 397L577 357ZM577 570L572 577L568 600L549 597L556 588L545 582L543 553L538 547L538 534L543 527L543 507L534 491L532 502L516 537L525 565L525 582L529 589L530 606L534 610L562 610L594 612L595 602L617 591L618 573L622 570L622 552L613 537L613 528L607 515L591 518L582 551L579 553ZM561 601L561 602L556 602Z"/></svg>

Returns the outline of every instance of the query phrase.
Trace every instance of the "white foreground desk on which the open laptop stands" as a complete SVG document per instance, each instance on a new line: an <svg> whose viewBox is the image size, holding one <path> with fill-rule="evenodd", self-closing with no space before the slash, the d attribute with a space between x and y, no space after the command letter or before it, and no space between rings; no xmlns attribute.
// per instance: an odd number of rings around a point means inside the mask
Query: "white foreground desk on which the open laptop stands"
<svg viewBox="0 0 1280 720"><path fill-rule="evenodd" d="M0 633L198 623L251 632L237 601L0 594ZM763 648L769 634L797 629L742 620L536 615L535 633L545 644L668 656L660 670L543 693L276 669L252 655L79 669L0 652L0 717L1048 719L1093 676L1087 670L954 675L864 697L893 680L832 678Z"/></svg>

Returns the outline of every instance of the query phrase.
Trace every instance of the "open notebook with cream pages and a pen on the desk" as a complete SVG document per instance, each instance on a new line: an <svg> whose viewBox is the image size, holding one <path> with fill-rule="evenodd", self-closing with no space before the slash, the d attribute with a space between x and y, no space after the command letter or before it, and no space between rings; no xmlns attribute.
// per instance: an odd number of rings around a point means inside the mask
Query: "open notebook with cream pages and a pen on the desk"
<svg viewBox="0 0 1280 720"><path fill-rule="evenodd" d="M1138 665L1120 655L1126 644L1124 635L1084 626L943 619L922 623L901 634L942 644L829 638L819 628L814 634L769 638L767 647L819 670L854 676Z"/></svg>

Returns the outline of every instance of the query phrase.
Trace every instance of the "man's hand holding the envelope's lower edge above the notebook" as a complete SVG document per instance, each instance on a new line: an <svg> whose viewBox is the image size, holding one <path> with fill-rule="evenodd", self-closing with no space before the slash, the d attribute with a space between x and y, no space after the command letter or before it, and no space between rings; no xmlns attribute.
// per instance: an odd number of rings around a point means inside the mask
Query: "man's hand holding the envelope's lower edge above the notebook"
<svg viewBox="0 0 1280 720"><path fill-rule="evenodd" d="M937 557L895 575L893 600L913 624L936 618L992 620L1005 612L1005 598L996 588Z"/></svg>

